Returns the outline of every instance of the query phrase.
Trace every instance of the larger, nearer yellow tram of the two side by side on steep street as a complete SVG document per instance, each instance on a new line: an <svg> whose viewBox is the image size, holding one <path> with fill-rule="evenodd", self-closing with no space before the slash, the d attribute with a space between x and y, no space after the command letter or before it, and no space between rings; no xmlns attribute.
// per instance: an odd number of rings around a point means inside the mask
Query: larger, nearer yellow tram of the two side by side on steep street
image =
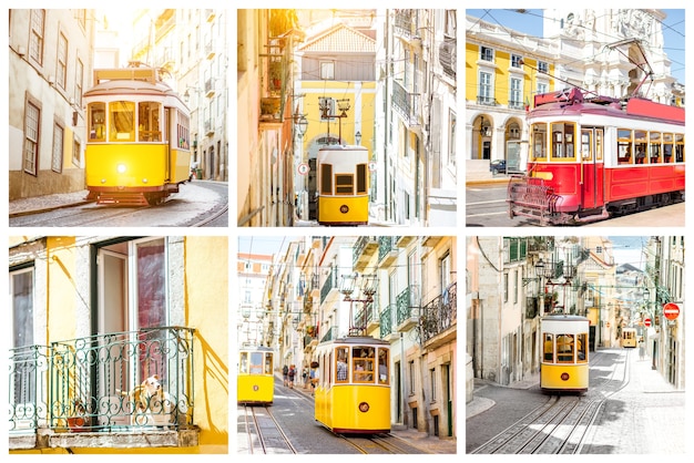
<svg viewBox="0 0 694 463"><path fill-rule="evenodd" d="M316 421L336 434L390 432L390 349L371 337L317 347Z"/></svg>

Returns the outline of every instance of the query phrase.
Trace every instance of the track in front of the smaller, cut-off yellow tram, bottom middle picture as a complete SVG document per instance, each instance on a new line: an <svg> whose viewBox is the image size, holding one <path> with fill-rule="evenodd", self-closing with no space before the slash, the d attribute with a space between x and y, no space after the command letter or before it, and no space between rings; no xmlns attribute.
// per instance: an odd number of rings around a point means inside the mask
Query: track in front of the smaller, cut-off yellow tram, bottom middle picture
<svg viewBox="0 0 694 463"><path fill-rule="evenodd" d="M298 453L273 415L269 407L243 405L249 454Z"/></svg>

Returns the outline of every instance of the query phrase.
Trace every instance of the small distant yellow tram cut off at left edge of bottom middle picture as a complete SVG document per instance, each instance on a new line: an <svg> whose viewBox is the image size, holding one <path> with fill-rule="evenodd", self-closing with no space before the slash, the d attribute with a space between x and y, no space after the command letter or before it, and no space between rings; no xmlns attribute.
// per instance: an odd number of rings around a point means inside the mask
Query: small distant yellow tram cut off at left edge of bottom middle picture
<svg viewBox="0 0 694 463"><path fill-rule="evenodd" d="M236 402L239 404L269 405L274 400L275 375L273 349L244 347L238 350Z"/></svg>

